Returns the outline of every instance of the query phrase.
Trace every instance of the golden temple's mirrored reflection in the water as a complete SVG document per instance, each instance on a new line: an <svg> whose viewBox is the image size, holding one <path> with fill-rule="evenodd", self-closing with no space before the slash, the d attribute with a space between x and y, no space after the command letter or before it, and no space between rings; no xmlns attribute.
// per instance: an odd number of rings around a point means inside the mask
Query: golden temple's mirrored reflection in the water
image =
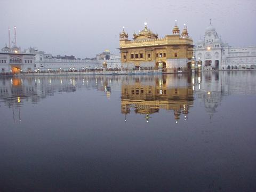
<svg viewBox="0 0 256 192"><path fill-rule="evenodd" d="M150 79L151 77L151 79ZM152 114L163 109L173 115L175 122L187 120L189 108L193 105L193 88L187 76L150 76L130 78L122 84L121 113L143 114L149 122ZM182 116L182 117L181 117Z"/></svg>

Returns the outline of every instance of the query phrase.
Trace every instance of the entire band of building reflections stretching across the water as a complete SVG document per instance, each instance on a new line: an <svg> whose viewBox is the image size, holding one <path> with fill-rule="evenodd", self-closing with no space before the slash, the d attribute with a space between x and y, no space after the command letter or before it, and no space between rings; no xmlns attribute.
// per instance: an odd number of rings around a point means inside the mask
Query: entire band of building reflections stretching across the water
<svg viewBox="0 0 256 192"><path fill-rule="evenodd" d="M159 110L165 110L175 122L186 121L195 100L212 119L223 98L231 94L256 95L255 76L256 71L209 71L199 75L2 77L0 107L4 104L12 108L14 122L19 122L25 102L36 104L57 93L92 90L94 95L108 99L113 92L118 98L121 95L121 114L125 121L133 111L149 122ZM85 102L88 101L94 98ZM67 102L73 102L72 95Z"/></svg>

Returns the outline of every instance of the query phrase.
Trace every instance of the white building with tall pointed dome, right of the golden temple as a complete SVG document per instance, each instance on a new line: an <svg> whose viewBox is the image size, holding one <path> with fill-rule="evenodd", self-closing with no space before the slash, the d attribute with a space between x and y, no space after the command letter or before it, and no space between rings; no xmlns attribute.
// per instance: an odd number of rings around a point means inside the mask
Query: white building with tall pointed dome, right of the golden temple
<svg viewBox="0 0 256 192"><path fill-rule="evenodd" d="M202 70L256 69L256 46L231 47L223 43L217 31L210 25L194 49Z"/></svg>

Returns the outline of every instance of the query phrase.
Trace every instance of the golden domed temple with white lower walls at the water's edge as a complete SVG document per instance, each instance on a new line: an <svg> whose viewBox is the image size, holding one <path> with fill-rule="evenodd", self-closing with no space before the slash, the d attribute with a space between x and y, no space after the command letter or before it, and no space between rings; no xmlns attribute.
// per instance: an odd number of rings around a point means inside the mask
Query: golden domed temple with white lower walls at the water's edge
<svg viewBox="0 0 256 192"><path fill-rule="evenodd" d="M187 27L180 34L175 25L172 35L158 38L146 24L139 34L133 34L132 41L124 30L119 35L123 69L163 69L167 73L181 69L187 71L193 57L193 39L189 38Z"/></svg>

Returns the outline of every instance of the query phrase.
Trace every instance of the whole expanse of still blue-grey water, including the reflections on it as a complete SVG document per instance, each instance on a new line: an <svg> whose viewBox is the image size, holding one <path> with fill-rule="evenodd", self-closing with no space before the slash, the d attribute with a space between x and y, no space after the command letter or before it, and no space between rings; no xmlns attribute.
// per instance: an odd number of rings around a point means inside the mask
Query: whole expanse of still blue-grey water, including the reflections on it
<svg viewBox="0 0 256 192"><path fill-rule="evenodd" d="M0 78L0 191L255 191L256 71Z"/></svg>

